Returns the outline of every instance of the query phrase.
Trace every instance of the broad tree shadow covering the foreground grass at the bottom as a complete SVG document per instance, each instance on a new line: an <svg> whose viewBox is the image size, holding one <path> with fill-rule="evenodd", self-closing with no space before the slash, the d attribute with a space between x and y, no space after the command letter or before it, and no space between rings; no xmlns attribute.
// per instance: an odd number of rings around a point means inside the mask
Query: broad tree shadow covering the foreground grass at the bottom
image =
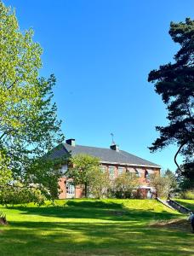
<svg viewBox="0 0 194 256"><path fill-rule="evenodd" d="M1 255L193 255L193 237L136 223L12 222ZM14 248L14 251L13 251ZM3 254L4 252L4 254Z"/></svg>

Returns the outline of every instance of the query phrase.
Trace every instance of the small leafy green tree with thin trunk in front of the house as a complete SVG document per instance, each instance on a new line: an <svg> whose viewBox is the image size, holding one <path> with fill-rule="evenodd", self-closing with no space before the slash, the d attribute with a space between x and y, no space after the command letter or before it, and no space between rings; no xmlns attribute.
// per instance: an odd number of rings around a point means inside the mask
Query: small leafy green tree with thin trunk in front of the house
<svg viewBox="0 0 194 256"><path fill-rule="evenodd" d="M71 157L67 176L72 178L74 186L84 185L85 197L88 197L89 184L94 177L93 172L96 173L99 170L98 158L88 154L77 154Z"/></svg>

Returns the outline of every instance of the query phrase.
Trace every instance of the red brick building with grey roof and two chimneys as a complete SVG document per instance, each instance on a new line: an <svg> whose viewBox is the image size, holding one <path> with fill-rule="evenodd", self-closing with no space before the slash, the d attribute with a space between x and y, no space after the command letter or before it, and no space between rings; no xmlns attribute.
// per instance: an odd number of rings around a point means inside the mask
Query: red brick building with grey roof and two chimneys
<svg viewBox="0 0 194 256"><path fill-rule="evenodd" d="M150 174L160 174L161 166L158 166L148 160L144 160L134 154L119 150L117 145L111 145L110 148L95 148L76 145L75 139L66 140L60 148L54 149L53 157L62 157L66 154L74 156L76 154L89 154L100 159L100 166L104 172L108 172L111 178L116 178L123 172L134 172L140 178L140 190L146 197L150 191ZM60 178L60 199L81 198L83 197L82 187L76 187L71 184L71 180L66 177L68 166L63 166L64 176Z"/></svg>

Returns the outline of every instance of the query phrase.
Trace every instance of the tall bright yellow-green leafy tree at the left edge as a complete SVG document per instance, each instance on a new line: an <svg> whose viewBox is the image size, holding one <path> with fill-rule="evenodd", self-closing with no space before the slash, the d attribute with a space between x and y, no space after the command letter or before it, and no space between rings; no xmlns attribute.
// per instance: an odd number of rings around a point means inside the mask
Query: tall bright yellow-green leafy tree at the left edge
<svg viewBox="0 0 194 256"><path fill-rule="evenodd" d="M39 78L43 49L32 37L31 29L20 32L14 11L0 1L0 186L36 184L53 197L60 161L43 156L63 135L52 102L55 78Z"/></svg>

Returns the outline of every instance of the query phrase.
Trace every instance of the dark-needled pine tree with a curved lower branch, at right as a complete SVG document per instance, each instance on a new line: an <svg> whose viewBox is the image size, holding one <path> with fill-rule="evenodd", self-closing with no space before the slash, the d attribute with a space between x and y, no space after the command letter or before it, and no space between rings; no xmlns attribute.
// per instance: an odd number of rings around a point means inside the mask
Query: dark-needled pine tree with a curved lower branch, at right
<svg viewBox="0 0 194 256"><path fill-rule="evenodd" d="M178 169L177 155L184 157L184 168L180 172L194 180L194 20L171 22L169 34L180 49L174 55L174 63L168 63L152 70L148 81L155 83L157 94L161 95L168 109L167 126L157 126L160 137L150 147L154 152L171 143L178 146L174 162Z"/></svg>

